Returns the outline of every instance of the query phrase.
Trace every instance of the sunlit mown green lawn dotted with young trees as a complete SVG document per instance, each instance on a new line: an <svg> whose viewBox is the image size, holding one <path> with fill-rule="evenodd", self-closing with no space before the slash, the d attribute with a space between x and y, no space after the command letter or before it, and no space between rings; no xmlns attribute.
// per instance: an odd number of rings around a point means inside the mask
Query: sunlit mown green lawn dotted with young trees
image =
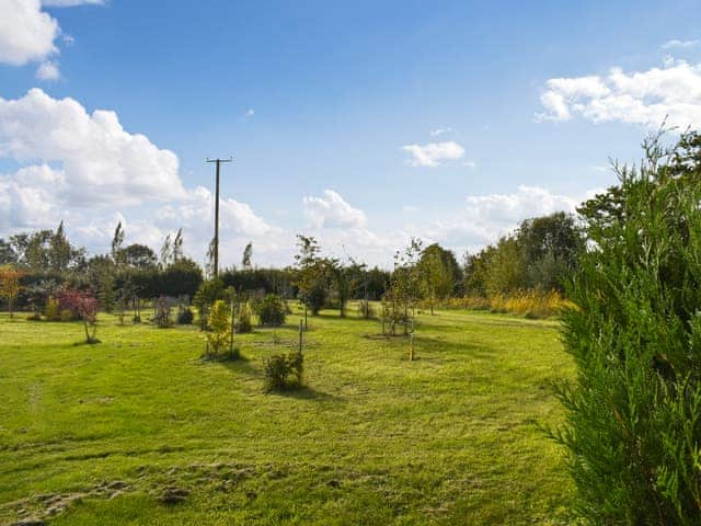
<svg viewBox="0 0 701 526"><path fill-rule="evenodd" d="M539 425L573 374L556 323L424 315L416 355L324 312L300 391L263 392L289 325L203 362L195 328L0 318L0 524L566 524L572 485ZM38 524L38 523L37 523Z"/></svg>

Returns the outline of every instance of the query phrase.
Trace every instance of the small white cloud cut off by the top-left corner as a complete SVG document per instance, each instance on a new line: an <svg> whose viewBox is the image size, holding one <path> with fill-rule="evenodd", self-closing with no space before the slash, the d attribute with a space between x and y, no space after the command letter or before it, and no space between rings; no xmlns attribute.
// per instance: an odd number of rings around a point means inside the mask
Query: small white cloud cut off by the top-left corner
<svg viewBox="0 0 701 526"><path fill-rule="evenodd" d="M0 0L0 62L23 66L58 52L58 22L39 0Z"/></svg>

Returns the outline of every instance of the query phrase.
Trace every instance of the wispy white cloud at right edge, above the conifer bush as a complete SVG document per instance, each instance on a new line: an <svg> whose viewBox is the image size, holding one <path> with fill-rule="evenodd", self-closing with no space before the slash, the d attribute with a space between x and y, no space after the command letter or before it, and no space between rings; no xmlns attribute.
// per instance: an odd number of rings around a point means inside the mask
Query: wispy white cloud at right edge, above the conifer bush
<svg viewBox="0 0 701 526"><path fill-rule="evenodd" d="M550 79L541 95L539 119L622 122L659 126L701 126L701 64L673 60L664 68L627 73L612 68L606 77Z"/></svg>

